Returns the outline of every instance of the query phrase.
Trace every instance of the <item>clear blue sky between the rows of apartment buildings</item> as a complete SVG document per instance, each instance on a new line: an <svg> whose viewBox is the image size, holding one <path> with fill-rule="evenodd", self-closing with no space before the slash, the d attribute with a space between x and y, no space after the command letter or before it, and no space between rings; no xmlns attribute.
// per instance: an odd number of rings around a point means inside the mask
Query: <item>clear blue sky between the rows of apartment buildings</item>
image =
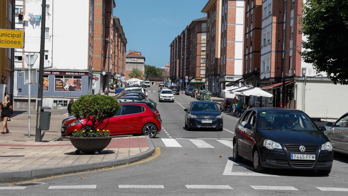
<svg viewBox="0 0 348 196"><path fill-rule="evenodd" d="M164 67L169 44L200 11L207 0L115 0L113 15L120 18L127 37L127 51L137 50L145 64Z"/></svg>

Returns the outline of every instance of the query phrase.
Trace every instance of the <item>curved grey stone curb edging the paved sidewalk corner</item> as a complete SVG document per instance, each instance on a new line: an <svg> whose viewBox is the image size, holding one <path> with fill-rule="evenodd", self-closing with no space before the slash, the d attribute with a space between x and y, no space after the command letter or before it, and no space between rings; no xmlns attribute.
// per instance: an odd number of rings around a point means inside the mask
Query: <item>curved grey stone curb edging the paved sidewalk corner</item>
<svg viewBox="0 0 348 196"><path fill-rule="evenodd" d="M34 178L45 178L52 175L62 175L76 172L84 172L87 170L101 169L105 167L119 166L125 165L128 163L133 163L145 158L148 158L155 151L155 146L150 140L149 136L145 136L149 149L145 152L136 154L134 156L130 156L122 159L114 159L108 161L100 161L95 163L85 163L85 164L77 164L77 165L67 165L67 166L59 166L59 167L44 167L38 169L21 169L15 171L5 171L0 172L0 183L8 183L15 181L26 181Z"/></svg>

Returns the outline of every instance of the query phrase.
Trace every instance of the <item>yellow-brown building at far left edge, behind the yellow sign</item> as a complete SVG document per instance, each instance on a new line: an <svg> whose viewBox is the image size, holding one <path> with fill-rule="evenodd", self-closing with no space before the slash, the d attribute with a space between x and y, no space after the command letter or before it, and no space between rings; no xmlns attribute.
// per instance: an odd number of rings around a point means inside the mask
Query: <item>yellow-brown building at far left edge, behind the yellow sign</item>
<svg viewBox="0 0 348 196"><path fill-rule="evenodd" d="M12 0L1 0L0 8L0 29L13 29L15 23L14 3ZM19 13L18 13L19 15ZM13 48L0 48L0 99L3 100L4 93L12 94L13 83L11 82L12 75L12 60Z"/></svg>

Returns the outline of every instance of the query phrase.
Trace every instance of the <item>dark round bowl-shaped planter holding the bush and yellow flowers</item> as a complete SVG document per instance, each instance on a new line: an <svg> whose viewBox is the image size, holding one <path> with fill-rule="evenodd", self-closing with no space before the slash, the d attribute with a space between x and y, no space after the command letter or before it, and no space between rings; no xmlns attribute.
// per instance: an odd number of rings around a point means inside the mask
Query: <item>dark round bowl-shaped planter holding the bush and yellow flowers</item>
<svg viewBox="0 0 348 196"><path fill-rule="evenodd" d="M99 154L106 146L109 145L113 137L71 137L66 136L65 138L70 139L71 144L77 148L76 154L80 151L85 153Z"/></svg>

